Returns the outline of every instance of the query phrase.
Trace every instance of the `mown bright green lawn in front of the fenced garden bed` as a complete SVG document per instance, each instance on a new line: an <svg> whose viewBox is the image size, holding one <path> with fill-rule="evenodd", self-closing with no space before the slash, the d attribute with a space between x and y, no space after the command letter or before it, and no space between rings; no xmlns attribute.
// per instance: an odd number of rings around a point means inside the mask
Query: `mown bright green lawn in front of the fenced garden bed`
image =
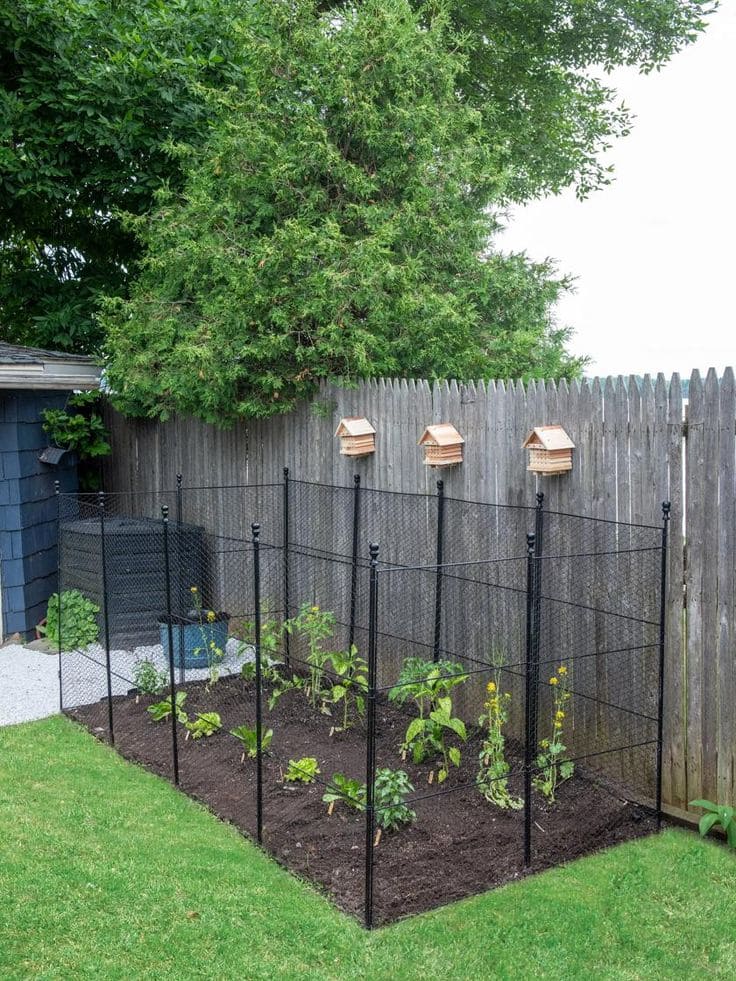
<svg viewBox="0 0 736 981"><path fill-rule="evenodd" d="M0 729L0 977L736 977L736 857L667 831L366 934L62 718Z"/></svg>

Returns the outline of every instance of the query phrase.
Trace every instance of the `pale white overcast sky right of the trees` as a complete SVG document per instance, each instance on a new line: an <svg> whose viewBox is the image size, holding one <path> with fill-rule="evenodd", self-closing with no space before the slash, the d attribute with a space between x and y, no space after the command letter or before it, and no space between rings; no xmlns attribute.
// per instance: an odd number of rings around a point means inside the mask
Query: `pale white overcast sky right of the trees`
<svg viewBox="0 0 736 981"><path fill-rule="evenodd" d="M498 244L577 277L558 320L588 374L720 374L736 363L736 0L661 72L613 79L636 116L614 183L518 210Z"/></svg>

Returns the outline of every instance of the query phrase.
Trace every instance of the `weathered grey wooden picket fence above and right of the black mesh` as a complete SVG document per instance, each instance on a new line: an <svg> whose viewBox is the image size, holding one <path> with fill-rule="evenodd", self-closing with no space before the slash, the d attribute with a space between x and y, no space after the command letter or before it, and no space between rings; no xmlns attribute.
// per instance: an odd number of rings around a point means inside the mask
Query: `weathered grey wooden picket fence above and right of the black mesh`
<svg viewBox="0 0 736 981"><path fill-rule="evenodd" d="M166 423L107 411L113 453L110 491L277 481L294 477L347 485L446 493L474 501L533 504L543 490L558 511L658 524L672 502L668 552L663 795L736 800L736 385L693 372L684 412L674 375L568 385L379 380L324 385L310 405L276 419L220 431L191 419ZM334 438L344 416L376 428L376 452L341 457ZM430 423L465 438L464 462L433 470L417 442ZM575 443L573 469L539 478L521 444L536 425L559 423Z"/></svg>

